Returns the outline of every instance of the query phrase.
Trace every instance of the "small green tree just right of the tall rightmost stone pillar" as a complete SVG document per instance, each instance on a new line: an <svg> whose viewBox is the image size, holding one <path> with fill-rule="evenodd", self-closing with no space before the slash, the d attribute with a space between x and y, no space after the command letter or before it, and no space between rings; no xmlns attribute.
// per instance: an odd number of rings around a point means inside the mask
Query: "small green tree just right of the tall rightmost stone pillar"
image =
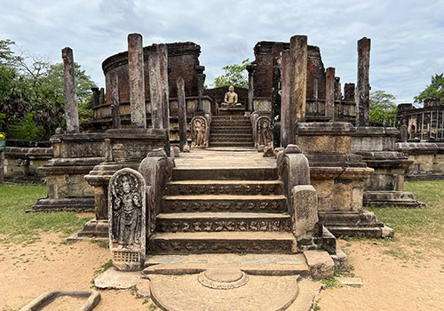
<svg viewBox="0 0 444 311"><path fill-rule="evenodd" d="M377 124L394 125L396 120L397 106L393 102L396 96L385 92L370 92L369 119Z"/></svg>

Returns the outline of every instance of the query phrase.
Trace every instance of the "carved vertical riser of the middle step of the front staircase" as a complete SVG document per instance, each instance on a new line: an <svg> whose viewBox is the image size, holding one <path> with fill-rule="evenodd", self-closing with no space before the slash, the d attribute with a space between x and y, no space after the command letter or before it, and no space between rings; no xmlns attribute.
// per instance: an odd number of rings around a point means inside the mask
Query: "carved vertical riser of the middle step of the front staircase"
<svg viewBox="0 0 444 311"><path fill-rule="evenodd" d="M184 200L163 199L163 212L287 212L285 199Z"/></svg>

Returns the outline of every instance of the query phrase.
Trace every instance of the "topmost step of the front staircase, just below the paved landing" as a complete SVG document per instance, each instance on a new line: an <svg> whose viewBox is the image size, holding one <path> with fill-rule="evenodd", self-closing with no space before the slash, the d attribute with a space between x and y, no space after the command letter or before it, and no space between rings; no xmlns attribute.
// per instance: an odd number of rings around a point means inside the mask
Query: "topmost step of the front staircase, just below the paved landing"
<svg viewBox="0 0 444 311"><path fill-rule="evenodd" d="M175 167L172 180L275 180L276 167Z"/></svg>

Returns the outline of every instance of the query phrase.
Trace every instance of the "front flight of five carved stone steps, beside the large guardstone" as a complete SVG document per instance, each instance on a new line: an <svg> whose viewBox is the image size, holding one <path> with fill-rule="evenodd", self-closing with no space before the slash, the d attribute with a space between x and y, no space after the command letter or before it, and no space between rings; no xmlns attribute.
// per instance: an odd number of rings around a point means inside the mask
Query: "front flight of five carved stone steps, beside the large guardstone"
<svg viewBox="0 0 444 311"><path fill-rule="evenodd" d="M177 167L151 252L296 252L283 184L273 167Z"/></svg>

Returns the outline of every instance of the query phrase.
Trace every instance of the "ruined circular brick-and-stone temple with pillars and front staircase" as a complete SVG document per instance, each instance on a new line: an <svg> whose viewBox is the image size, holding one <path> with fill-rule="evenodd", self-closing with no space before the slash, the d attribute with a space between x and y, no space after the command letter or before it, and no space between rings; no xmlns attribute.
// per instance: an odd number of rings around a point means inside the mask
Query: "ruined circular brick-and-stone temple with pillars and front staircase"
<svg viewBox="0 0 444 311"><path fill-rule="evenodd" d="M178 271L199 274L190 288L228 290L250 286L254 275L347 270L336 236L394 234L365 207L424 206L403 191L423 148L404 141L413 117L400 115L409 117L400 143L396 128L369 123L369 38L358 41L356 87L344 91L306 36L256 44L248 89L203 90L200 51L194 43L143 47L142 36L129 35L128 51L102 64L107 85L93 90L94 120L78 124L74 60L64 49L67 132L52 137L48 197L33 207L95 211L70 239L109 238L114 266L144 269L163 309L163 284ZM440 135L437 123L428 128L430 139ZM249 257L221 273L211 259L211 268L193 258L178 265L174 255L184 253L273 253L291 264L276 272L272 259ZM232 267L238 259L230 258L218 265ZM288 306L296 298L295 290Z"/></svg>

